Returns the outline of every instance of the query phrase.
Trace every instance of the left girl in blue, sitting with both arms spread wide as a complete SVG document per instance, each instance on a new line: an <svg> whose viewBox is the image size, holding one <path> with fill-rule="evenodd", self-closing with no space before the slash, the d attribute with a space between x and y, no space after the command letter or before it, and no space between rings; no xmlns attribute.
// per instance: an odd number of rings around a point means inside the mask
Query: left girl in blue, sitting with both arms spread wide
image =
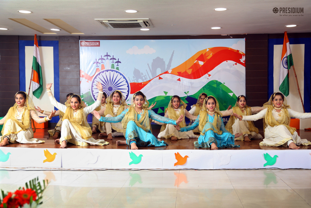
<svg viewBox="0 0 311 208"><path fill-rule="evenodd" d="M125 141L117 141L117 145L129 145L131 149L138 149L138 147L161 147L168 145L164 141L159 142L158 139L151 133L149 118L161 123L178 125L183 120L183 115L179 119L172 120L166 117L160 116L148 109L149 102L146 96L138 91L132 96L132 105L124 110L120 115L116 117L100 117L100 115L94 111L94 116L99 121L117 123L122 120L122 127L126 129Z"/></svg>

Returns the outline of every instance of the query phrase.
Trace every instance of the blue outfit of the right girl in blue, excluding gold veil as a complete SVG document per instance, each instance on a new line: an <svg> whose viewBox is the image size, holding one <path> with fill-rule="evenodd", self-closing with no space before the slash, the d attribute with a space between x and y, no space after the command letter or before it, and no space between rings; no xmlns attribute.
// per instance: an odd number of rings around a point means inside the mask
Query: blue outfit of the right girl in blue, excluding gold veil
<svg viewBox="0 0 311 208"><path fill-rule="evenodd" d="M192 125L180 128L180 132L190 131L197 128L197 126L199 125L199 118L200 115L198 115L197 119ZM194 147L210 148L211 143L215 143L218 148L240 147L240 145L234 145L234 135L225 129L225 125L222 121L222 118L220 117L220 119L221 119L220 131L222 131L222 134L214 133L213 130L216 130L213 126L214 117L208 115L208 121L205 123L204 128L202 130L202 132L205 133L204 135L200 135L198 141L195 141L193 143Z"/></svg>

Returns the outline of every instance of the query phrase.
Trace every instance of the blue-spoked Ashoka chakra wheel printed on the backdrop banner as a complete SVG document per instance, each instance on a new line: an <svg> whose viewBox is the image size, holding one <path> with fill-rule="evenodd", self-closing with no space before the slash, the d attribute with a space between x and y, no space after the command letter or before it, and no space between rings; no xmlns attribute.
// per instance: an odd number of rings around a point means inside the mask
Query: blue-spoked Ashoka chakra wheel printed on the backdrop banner
<svg viewBox="0 0 311 208"><path fill-rule="evenodd" d="M130 94L130 84L128 79L123 73L114 69L106 69L98 72L92 80L91 83L91 94L93 99L96 101L98 95L98 89L96 88L96 83L100 82L103 85L103 91L109 96L115 90L119 90L128 99Z"/></svg>

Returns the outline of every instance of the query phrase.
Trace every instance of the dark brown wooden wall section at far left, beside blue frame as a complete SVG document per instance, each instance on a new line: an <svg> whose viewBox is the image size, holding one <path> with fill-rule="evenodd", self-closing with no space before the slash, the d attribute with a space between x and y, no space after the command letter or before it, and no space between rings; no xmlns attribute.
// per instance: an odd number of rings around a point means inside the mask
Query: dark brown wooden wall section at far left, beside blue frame
<svg viewBox="0 0 311 208"><path fill-rule="evenodd" d="M0 116L15 103L19 91L18 36L0 36Z"/></svg>

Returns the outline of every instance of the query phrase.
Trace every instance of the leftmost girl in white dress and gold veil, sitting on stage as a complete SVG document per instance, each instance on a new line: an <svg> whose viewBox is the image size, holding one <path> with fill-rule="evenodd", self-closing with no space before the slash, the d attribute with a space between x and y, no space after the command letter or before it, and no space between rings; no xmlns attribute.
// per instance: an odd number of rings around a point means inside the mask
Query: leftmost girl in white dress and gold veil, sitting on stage
<svg viewBox="0 0 311 208"><path fill-rule="evenodd" d="M37 123L44 123L54 116L55 110L49 117L39 118L35 105L27 93L19 91L15 94L15 104L9 109L7 115L0 120L3 125L2 136L0 136L0 146L11 143L34 144L44 143L34 137L31 128L31 119ZM35 125L34 125L35 126Z"/></svg>

